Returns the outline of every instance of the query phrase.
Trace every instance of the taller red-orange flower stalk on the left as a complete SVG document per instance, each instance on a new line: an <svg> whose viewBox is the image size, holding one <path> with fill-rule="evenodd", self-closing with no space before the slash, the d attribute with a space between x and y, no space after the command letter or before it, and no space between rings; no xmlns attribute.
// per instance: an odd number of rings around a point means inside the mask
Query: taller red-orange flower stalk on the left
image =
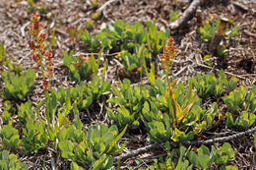
<svg viewBox="0 0 256 170"><path fill-rule="evenodd" d="M41 24L39 23L39 14L32 14L32 25L30 26L30 34L32 35L32 40L29 42L32 59L40 68L42 74L43 90L48 91L48 86L50 85L50 80L53 77L53 62L52 53L45 51L45 39L46 34L41 31ZM46 74L44 73L42 58L46 60ZM49 79L49 82L46 80Z"/></svg>

